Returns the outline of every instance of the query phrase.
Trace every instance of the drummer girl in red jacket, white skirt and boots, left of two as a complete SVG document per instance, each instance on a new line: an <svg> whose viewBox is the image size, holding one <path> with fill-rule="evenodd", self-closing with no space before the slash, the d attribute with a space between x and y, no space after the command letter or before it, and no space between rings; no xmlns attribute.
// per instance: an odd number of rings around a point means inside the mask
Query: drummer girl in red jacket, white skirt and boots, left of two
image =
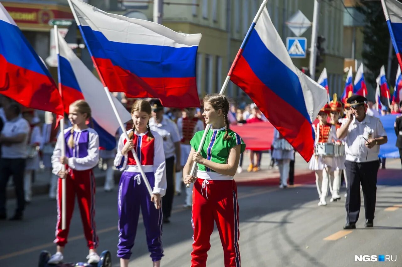
<svg viewBox="0 0 402 267"><path fill-rule="evenodd" d="M320 109L317 117L319 123L313 128L316 131L316 140L315 146L319 146L320 144L331 143L332 139L334 139L334 133L331 132L331 124L327 123L328 114L330 113L331 107L328 103ZM333 151L332 151L333 152ZM318 196L320 198L320 202L318 202L318 206L325 206L326 200L325 197L328 193L328 179L331 175L333 175L332 167L334 166L333 155L332 156L324 156L315 155L311 158L309 169L314 170L316 172L316 186L318 191Z"/></svg>

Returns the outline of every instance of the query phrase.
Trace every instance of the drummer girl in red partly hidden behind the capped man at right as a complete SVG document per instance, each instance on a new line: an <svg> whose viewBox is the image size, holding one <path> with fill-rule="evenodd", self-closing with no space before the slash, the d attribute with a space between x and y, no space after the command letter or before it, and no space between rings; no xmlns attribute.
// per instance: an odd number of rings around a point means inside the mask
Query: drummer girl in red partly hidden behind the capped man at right
<svg viewBox="0 0 402 267"><path fill-rule="evenodd" d="M334 141L336 142L336 147L341 148L343 146L343 140L339 140L338 138L336 138L336 131L342 125L342 123L339 122L339 118L343 115L343 107L342 103L336 101L336 98L337 95L334 94L333 100L329 104L331 107L330 123L332 124L331 132L334 133ZM333 170L334 180L333 183L330 185L330 188L332 188L332 197L330 199L330 202L340 200L340 176L342 175L343 170L345 170L345 153L334 156Z"/></svg>

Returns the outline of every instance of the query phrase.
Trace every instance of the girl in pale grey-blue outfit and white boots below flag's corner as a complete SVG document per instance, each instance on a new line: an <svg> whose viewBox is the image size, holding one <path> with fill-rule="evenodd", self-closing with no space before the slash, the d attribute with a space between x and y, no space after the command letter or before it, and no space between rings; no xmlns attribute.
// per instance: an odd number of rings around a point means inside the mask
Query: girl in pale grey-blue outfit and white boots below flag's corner
<svg viewBox="0 0 402 267"><path fill-rule="evenodd" d="M280 178L279 188L287 187L289 178L290 161L295 159L293 147L283 138L279 131L274 129L272 158L278 164Z"/></svg>

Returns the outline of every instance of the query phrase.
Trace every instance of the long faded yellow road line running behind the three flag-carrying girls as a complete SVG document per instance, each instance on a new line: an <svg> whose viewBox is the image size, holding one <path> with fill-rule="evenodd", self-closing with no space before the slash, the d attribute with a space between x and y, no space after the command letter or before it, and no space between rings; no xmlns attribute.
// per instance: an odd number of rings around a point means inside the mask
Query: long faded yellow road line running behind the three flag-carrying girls
<svg viewBox="0 0 402 267"><path fill-rule="evenodd" d="M277 188L258 189L255 192L251 192L251 193L248 193L248 194L243 194L242 196L239 196L238 199L246 198L246 197L249 197L249 196L256 196L258 194L264 194L264 193L272 192L272 191L275 191L275 190L278 190L278 189ZM181 212L183 210L189 210L189 208L183 208L183 206L182 206L181 208L172 210L172 214ZM143 222L142 214L140 214L138 223L142 223L142 222ZM107 227L107 228L104 228L104 229L101 229L101 230L97 230L96 232L98 234L101 234L101 233L107 233L107 232L111 232L111 231L117 231L117 226ZM74 240L78 240L78 239L84 239L84 235L76 235L75 237L69 237L68 241L74 241ZM20 255L23 255L23 254L31 253L33 251L43 250L43 249L53 247L53 246L55 246L55 243L49 242L49 243L45 243L45 244L38 245L38 246L35 246L35 247L30 247L28 249L23 249L23 250L20 250L20 251L15 251L15 252L12 252L12 253L4 254L4 255L0 256L0 261L4 260L4 259L12 258L12 257L20 256Z"/></svg>

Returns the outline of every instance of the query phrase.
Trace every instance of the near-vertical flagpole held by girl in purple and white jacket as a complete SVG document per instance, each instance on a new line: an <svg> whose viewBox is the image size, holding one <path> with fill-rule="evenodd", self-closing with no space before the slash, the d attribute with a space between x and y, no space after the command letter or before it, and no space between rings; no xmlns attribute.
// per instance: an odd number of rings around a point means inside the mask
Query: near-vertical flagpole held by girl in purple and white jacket
<svg viewBox="0 0 402 267"><path fill-rule="evenodd" d="M62 83L60 82L60 63L59 61L59 30L57 29L57 25L53 26L53 31L54 31L54 40L55 40L55 47L56 47L56 55L57 55L57 78L59 80L58 82L58 88L59 88L59 94L60 97L63 100L63 93L62 93ZM60 120L60 133L64 136L64 116L63 119ZM66 156L66 142L62 142L62 157ZM63 164L62 166L62 171L66 171L66 166ZM66 229L66 179L67 177L65 176L62 179L62 230Z"/></svg>

